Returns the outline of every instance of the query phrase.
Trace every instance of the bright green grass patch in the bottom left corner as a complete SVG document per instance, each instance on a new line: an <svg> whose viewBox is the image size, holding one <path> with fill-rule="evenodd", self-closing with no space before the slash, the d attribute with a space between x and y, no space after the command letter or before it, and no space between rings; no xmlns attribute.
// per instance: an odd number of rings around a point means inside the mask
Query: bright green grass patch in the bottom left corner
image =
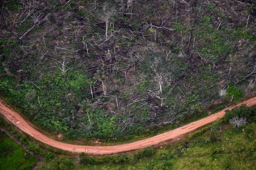
<svg viewBox="0 0 256 170"><path fill-rule="evenodd" d="M9 152L5 153L7 151ZM34 167L37 161L37 158L27 153L4 131L0 131L0 169L27 170Z"/></svg>

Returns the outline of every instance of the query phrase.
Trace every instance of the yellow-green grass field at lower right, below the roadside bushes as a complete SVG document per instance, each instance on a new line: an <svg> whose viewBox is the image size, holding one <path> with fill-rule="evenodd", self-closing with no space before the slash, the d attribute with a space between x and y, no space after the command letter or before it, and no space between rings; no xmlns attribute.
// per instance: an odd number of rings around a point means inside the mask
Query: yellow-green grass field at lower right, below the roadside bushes
<svg viewBox="0 0 256 170"><path fill-rule="evenodd" d="M214 127L214 126L213 126ZM225 126L224 126L225 127ZM256 166L256 124L206 131L191 139L162 146L150 158L129 164L79 165L77 169L254 169ZM212 129L212 130L211 130Z"/></svg>

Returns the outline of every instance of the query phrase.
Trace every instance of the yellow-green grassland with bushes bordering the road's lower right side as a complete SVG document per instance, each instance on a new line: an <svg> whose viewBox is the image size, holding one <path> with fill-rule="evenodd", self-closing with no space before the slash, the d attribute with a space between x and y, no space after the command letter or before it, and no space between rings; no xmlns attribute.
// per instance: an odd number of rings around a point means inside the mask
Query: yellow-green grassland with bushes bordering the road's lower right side
<svg viewBox="0 0 256 170"><path fill-rule="evenodd" d="M244 117L248 124L227 124L237 115ZM148 155L139 159L136 156L140 152L116 155L112 159L85 159L81 154L82 165L78 169L253 169L256 165L255 144L256 106L241 106L178 142L162 145L155 151L148 149ZM109 161L101 164L100 160Z"/></svg>

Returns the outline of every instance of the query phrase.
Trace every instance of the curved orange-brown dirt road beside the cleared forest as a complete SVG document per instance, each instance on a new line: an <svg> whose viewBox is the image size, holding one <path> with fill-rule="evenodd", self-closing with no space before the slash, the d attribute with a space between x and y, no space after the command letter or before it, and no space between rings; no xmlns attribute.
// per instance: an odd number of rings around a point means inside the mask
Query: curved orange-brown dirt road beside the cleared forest
<svg viewBox="0 0 256 170"><path fill-rule="evenodd" d="M191 122L190 124L181 126L177 129L167 131L165 133L156 135L151 138L146 138L140 141L127 143L123 145L116 145L116 146L84 146L84 145L73 145L68 143L62 143L55 141L46 135L40 133L39 131L35 130L31 125L27 123L24 118L20 116L19 113L7 108L3 105L0 101L0 114L8 121L10 121L13 125L17 126L20 130L24 131L25 133L31 135L35 139L46 143L47 145L57 147L59 149L71 151L71 152L85 152L88 154L94 155L107 155L107 154L115 154L129 150L137 150L142 149L147 146L156 145L159 142L166 141L168 139L176 139L183 134L189 133L194 131L195 129L209 124L215 121L217 118L221 118L225 114L225 110L232 109L235 106L239 106L241 104L247 104L247 106L252 106L256 104L256 97L253 97L247 101L244 101L240 104L230 106L224 110L221 110L218 113L212 114L208 117L202 118L198 121Z"/></svg>

